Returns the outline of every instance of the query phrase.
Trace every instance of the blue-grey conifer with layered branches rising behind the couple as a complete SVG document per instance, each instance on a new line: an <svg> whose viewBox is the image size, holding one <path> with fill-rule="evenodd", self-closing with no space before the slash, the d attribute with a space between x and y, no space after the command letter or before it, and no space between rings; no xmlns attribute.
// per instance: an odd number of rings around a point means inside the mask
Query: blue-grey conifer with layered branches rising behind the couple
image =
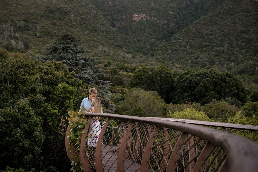
<svg viewBox="0 0 258 172"><path fill-rule="evenodd" d="M85 51L79 47L79 40L71 33L62 33L47 48L53 61L62 62L70 72L75 72L76 77L92 86L100 86L102 93L108 89L109 82L103 80L106 76L103 69L96 65L97 58L86 58Z"/></svg>

